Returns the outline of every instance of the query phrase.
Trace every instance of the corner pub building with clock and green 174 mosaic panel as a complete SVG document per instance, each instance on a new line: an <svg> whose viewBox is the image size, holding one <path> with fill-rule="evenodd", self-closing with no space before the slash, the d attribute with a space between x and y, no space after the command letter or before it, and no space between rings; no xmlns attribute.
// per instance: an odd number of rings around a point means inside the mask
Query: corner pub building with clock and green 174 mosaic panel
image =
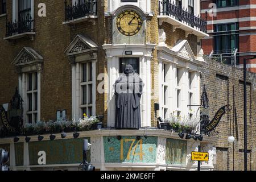
<svg viewBox="0 0 256 182"><path fill-rule="evenodd" d="M24 135L14 142L1 121L0 148L10 152L10 169L78 170L85 138L97 170L196 170L191 152L199 146L209 152L201 169L214 169L216 137L181 139L158 121L199 115L206 64L200 40L208 36L199 1L45 0L46 16L38 16L40 2L1 1L0 104L10 116L17 88L24 126L56 121L60 113L70 122L103 115L103 126L78 131L78 138L67 131L65 138L40 133L41 141L34 134L30 142ZM139 130L114 128L113 85L127 64L144 83Z"/></svg>

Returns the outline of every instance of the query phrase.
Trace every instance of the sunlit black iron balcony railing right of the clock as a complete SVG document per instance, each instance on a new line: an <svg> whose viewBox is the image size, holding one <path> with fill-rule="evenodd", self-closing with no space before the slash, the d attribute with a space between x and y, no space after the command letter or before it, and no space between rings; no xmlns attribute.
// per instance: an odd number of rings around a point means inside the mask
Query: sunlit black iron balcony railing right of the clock
<svg viewBox="0 0 256 182"><path fill-rule="evenodd" d="M188 10L182 9L181 6L175 5L169 0L159 1L159 15L174 16L180 22L187 23L191 27L199 28L200 31L207 33L207 13L206 19L189 13Z"/></svg>

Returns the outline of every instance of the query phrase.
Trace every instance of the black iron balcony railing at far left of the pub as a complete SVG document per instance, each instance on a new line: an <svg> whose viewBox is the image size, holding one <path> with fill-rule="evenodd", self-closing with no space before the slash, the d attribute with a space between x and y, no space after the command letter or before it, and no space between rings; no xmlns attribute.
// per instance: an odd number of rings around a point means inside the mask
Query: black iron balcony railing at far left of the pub
<svg viewBox="0 0 256 182"><path fill-rule="evenodd" d="M34 32L34 19L32 19L30 14L27 14L27 17L19 22L16 20L10 22L6 16L6 37L25 32Z"/></svg>

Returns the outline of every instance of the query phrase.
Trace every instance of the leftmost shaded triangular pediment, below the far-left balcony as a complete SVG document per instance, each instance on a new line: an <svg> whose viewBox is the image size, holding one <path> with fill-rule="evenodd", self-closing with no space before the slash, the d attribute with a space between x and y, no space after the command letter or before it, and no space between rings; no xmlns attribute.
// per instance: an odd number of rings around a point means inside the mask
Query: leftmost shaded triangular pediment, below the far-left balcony
<svg viewBox="0 0 256 182"><path fill-rule="evenodd" d="M18 56L15 57L12 64L17 67L22 67L40 62L43 62L43 56L31 47L23 47L22 51L20 51Z"/></svg>

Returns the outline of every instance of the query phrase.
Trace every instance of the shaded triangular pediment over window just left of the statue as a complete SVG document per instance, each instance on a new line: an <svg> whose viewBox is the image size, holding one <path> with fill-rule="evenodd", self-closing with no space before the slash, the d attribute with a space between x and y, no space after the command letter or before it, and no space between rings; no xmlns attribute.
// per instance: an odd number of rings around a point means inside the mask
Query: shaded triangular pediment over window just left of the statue
<svg viewBox="0 0 256 182"><path fill-rule="evenodd" d="M65 54L68 56L79 55L86 52L97 51L98 46L90 38L84 35L77 35L76 38L69 44L65 50Z"/></svg>

